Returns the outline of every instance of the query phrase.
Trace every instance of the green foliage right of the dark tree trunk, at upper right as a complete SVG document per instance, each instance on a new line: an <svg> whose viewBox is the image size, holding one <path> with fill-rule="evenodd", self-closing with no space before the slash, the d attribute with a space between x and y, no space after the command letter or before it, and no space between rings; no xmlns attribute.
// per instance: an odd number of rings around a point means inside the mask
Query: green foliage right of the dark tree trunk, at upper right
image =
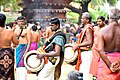
<svg viewBox="0 0 120 80"><path fill-rule="evenodd" d="M114 6L117 1L118 0L92 0L89 6L91 7L89 12L92 15L93 20L96 20L98 16L107 18L108 14L104 10L101 10L100 6L104 6L104 3L109 3L110 6Z"/></svg>

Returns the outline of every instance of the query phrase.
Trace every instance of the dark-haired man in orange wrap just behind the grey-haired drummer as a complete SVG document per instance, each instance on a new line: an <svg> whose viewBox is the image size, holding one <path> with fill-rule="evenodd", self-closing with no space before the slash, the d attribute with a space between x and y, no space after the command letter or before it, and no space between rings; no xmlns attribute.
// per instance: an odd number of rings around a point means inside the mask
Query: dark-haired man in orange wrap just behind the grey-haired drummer
<svg viewBox="0 0 120 80"><path fill-rule="evenodd" d="M98 26L94 27L94 43L92 47L92 63L90 66L90 73L94 76L97 76L97 68L98 68L98 60L99 60L99 53L98 53L98 34L101 28L105 26L105 18L103 16L99 16L97 18Z"/></svg>

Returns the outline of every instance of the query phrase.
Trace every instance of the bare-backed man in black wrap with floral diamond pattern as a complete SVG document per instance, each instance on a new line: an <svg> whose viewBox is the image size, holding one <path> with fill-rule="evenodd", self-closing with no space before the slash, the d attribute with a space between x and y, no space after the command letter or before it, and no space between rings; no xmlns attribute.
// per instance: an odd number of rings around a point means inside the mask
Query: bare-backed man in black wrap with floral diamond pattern
<svg viewBox="0 0 120 80"><path fill-rule="evenodd" d="M11 43L18 45L13 30L5 29L6 16L0 14L0 79L14 80L14 50Z"/></svg>

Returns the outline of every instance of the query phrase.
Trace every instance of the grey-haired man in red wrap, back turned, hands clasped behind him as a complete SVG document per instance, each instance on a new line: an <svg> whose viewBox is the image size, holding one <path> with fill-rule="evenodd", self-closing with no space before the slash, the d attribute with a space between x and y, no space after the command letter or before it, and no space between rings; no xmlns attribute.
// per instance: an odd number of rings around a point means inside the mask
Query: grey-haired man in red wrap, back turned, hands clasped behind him
<svg viewBox="0 0 120 80"><path fill-rule="evenodd" d="M97 80L120 80L120 72L110 70L111 63L120 57L120 11L110 10L109 25L102 28L98 36L98 52L101 57Z"/></svg>

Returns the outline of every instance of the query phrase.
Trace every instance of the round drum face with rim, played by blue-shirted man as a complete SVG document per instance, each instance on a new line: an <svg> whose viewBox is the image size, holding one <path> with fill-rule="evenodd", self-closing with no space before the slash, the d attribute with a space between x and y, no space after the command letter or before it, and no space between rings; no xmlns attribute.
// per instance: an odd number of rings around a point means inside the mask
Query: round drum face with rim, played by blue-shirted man
<svg viewBox="0 0 120 80"><path fill-rule="evenodd" d="M32 50L26 53L24 57L24 65L31 72L40 71L44 66L44 59L40 62L40 60L37 59L37 54L40 54L40 52Z"/></svg>

